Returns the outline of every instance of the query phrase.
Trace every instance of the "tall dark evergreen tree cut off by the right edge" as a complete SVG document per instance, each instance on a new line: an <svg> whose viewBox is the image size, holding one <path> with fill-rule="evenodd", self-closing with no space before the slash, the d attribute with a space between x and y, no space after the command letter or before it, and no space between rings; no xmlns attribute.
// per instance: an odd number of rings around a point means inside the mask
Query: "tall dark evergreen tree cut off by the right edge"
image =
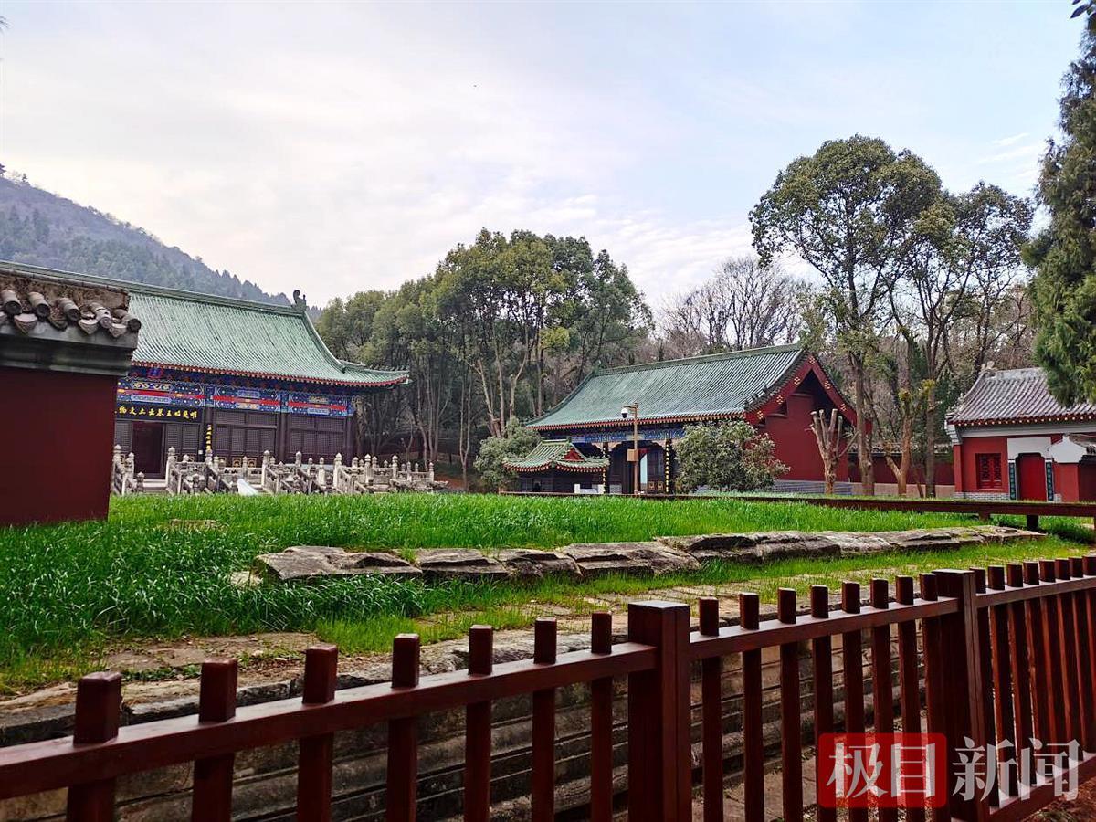
<svg viewBox="0 0 1096 822"><path fill-rule="evenodd" d="M1083 3L1081 55L1065 76L1060 140L1039 176L1050 224L1026 250L1034 282L1036 358L1063 403L1096 400L1096 4Z"/></svg>

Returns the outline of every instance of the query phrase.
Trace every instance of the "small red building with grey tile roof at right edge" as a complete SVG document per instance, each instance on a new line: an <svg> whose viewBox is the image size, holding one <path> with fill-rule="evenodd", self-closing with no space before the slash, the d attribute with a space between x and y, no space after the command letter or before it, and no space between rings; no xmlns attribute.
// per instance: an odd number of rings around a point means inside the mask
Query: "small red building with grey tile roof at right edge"
<svg viewBox="0 0 1096 822"><path fill-rule="evenodd" d="M1096 403L1062 406L1041 368L983 369L947 430L957 498L1096 501Z"/></svg>

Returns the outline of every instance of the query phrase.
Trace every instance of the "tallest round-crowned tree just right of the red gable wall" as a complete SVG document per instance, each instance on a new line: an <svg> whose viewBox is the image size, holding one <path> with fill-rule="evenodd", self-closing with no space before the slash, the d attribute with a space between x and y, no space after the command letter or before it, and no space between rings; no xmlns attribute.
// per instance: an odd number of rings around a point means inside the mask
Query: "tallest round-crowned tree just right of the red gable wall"
<svg viewBox="0 0 1096 822"><path fill-rule="evenodd" d="M750 213L763 264L794 252L825 281L837 343L856 403L856 449L865 493L871 470L868 377L888 295L917 237L917 220L940 196L940 179L916 155L856 135L794 160Z"/></svg>

